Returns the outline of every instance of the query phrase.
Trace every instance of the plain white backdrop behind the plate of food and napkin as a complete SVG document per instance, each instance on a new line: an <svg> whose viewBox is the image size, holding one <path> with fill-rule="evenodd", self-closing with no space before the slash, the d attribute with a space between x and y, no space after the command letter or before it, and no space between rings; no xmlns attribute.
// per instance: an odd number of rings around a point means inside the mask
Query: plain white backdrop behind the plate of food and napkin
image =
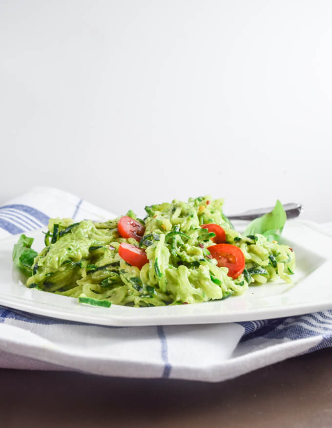
<svg viewBox="0 0 332 428"><path fill-rule="evenodd" d="M0 0L0 203L205 193L332 220L332 2Z"/></svg>

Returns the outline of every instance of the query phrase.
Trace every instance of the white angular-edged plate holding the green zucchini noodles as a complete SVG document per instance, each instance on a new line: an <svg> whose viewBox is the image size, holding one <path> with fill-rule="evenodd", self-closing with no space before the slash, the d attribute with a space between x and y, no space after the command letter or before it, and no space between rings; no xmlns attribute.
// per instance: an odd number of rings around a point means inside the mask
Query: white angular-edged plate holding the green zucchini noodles
<svg viewBox="0 0 332 428"><path fill-rule="evenodd" d="M40 251L41 230L28 234ZM0 305L62 320L114 326L203 324L288 317L332 308L332 234L309 221L287 222L282 242L295 251L293 284L251 286L242 296L193 305L89 307L77 299L26 288L11 254L19 235L0 241Z"/></svg>

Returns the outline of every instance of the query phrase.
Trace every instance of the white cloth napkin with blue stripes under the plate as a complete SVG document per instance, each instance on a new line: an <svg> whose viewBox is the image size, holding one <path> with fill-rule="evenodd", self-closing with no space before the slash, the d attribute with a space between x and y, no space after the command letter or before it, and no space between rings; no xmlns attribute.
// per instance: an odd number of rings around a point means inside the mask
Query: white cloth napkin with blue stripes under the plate
<svg viewBox="0 0 332 428"><path fill-rule="evenodd" d="M49 217L111 218L72 194L38 187L0 208L0 238ZM0 367L208 382L332 345L332 311L228 324L105 327L0 307Z"/></svg>

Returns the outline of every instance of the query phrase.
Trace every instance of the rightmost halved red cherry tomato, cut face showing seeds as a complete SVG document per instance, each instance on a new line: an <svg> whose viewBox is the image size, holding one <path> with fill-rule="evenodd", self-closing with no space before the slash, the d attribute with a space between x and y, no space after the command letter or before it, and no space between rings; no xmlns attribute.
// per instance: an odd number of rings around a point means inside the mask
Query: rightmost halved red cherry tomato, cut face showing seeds
<svg viewBox="0 0 332 428"><path fill-rule="evenodd" d="M239 277L244 271L246 260L239 247L231 244L217 244L207 247L219 267L228 268L228 277Z"/></svg>

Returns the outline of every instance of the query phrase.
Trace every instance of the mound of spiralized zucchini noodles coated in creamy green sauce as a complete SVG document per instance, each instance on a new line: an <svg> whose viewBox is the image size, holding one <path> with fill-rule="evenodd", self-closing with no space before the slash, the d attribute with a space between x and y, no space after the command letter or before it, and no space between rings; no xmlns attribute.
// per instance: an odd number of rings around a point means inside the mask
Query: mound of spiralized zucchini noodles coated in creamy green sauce
<svg viewBox="0 0 332 428"><path fill-rule="evenodd" d="M281 278L291 282L294 252L269 242L263 235L242 236L222 211L223 200L211 196L145 207L145 234L138 243L122 238L120 217L104 223L69 218L51 219L45 248L34 259L27 286L78 298L107 300L118 305L162 306L226 299L242 294L249 284ZM126 215L136 219L131 211ZM228 244L239 247L246 260L236 279L218 267L207 247L214 234L201 225L215 223L226 232ZM149 260L141 270L123 260L122 242L145 249ZM105 303L107 305L107 303ZM103 303L104 305L104 303Z"/></svg>

